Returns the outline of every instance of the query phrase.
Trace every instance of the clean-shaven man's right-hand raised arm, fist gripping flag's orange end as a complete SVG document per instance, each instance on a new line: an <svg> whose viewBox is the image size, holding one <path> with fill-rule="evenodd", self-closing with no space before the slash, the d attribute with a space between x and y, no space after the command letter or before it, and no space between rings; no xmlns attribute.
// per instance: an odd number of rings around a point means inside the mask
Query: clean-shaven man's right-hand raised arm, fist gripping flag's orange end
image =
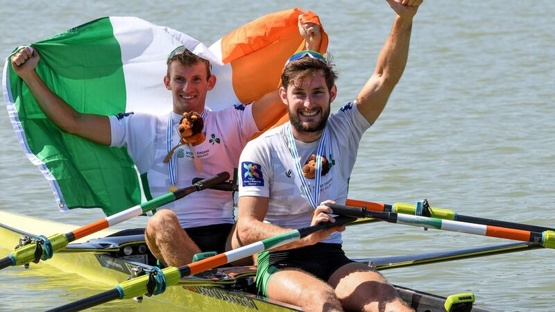
<svg viewBox="0 0 555 312"><path fill-rule="evenodd" d="M305 38L305 50L318 51L322 41L322 33L320 26L314 23L300 22L299 16L299 33ZM268 92L258 101L253 103L253 117L259 131L266 130L272 121L283 116L286 106L280 98L279 89Z"/></svg>

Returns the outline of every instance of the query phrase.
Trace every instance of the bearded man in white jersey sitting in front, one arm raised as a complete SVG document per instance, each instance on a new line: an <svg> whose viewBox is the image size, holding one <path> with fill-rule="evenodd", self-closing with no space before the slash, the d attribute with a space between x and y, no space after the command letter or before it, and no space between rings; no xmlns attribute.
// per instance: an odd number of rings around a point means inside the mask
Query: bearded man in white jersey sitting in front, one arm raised
<svg viewBox="0 0 555 312"><path fill-rule="evenodd" d="M336 114L330 116L337 92L330 60L302 51L285 64L280 96L290 122L250 141L239 159L240 243L335 221L323 204L345 204L359 141L402 76L412 20L422 1L388 3L396 16L376 69L355 101ZM303 167L309 158L316 160L315 173ZM259 292L306 311L410 311L379 272L345 257L344 229L327 229L260 253Z"/></svg>

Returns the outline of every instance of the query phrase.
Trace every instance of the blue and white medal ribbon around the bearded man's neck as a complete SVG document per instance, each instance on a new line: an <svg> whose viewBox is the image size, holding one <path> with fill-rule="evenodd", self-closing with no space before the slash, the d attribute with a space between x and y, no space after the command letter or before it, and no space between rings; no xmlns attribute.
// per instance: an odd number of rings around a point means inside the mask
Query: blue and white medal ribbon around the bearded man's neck
<svg viewBox="0 0 555 312"><path fill-rule="evenodd" d="M295 162L295 168L297 170L297 175L300 179L300 184L305 189L307 193L307 200L312 208L316 209L318 207L318 201L320 200L320 180L322 177L322 156L324 155L325 141L327 140L327 127L324 128L322 137L320 138L320 144L318 144L318 152L316 153L316 176L314 177L314 197L310 191L309 184L305 175L302 175L302 166L300 166L300 157L297 151L297 146L295 144L295 138L293 138L293 132L291 131L291 123L287 123L285 132L287 134L287 141L289 141L289 151L291 156L293 156L293 162Z"/></svg>

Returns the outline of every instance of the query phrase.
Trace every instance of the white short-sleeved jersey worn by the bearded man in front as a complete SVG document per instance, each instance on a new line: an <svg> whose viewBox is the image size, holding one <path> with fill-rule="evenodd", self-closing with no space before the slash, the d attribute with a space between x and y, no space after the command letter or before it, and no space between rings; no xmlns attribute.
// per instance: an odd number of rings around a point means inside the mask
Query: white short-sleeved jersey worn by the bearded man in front
<svg viewBox="0 0 555 312"><path fill-rule="evenodd" d="M287 144L287 124L270 130L250 141L239 159L239 197L263 196L269 198L264 221L280 227L298 229L311 223L314 208L307 200ZM359 141L370 123L348 103L327 120L328 144L325 157L330 162L330 172L320 183L320 199L334 200L345 205L348 182L357 159ZM316 154L318 141L303 143L295 140L301 166L311 154ZM314 194L314 180L307 179ZM325 243L341 243L341 233L336 232Z"/></svg>

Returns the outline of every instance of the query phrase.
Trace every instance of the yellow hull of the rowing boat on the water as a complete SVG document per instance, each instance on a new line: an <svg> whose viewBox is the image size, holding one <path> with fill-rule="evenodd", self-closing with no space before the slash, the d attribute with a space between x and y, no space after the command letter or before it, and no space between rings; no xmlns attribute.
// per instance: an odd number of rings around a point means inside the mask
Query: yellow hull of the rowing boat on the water
<svg viewBox="0 0 555 312"><path fill-rule="evenodd" d="M76 225L0 211L0 250L6 252L13 250L23 236L22 232L51 236L52 234L71 232L76 228L78 228ZM101 232L74 241L74 243L69 244L68 248L56 252L51 259L36 264L31 263L31 269L37 266L50 266L66 273L75 273L87 279L87 281L98 283L100 284L99 288L103 290L113 288L130 276L113 268L119 266L130 266L132 268L132 264L125 261L113 261L110 263L112 268L107 268L105 267L106 263L103 263L103 265L99 261L99 254L101 254L99 250L72 250L69 247L76 243L83 243L88 239L105 237L115 232L117 230L104 229ZM106 256L108 254L108 252L105 253ZM103 257L103 259L107 258ZM10 270L10 268L5 270ZM76 280L76 283L78 282ZM198 281L182 279L182 286L167 288L167 291L161 295L145 300L155 300L159 309L169 309L169 311L184 306L191 311L298 311L298 308L294 306L260 300L254 295L246 293L224 291L216 286L216 283L210 281L205 283L205 285L210 284L214 284L214 286L201 287L198 286Z"/></svg>

